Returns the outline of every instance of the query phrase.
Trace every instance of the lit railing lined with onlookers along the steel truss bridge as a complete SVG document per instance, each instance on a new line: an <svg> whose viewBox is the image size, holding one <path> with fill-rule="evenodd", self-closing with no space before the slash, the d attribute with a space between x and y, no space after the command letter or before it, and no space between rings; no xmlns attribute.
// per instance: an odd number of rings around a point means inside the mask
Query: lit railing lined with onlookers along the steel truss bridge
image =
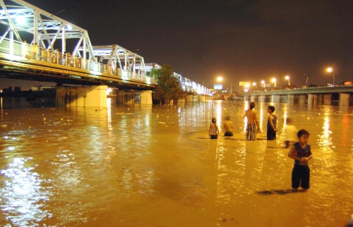
<svg viewBox="0 0 353 227"><path fill-rule="evenodd" d="M13 48L11 48L11 46ZM37 44L28 44L26 42L18 42L16 40L13 40L13 44L11 44L11 40L4 37L0 37L0 53L22 56L28 60L33 59L48 63L56 63L61 66L89 70L93 74L100 73L112 75L119 77L119 79L122 80L139 80L145 82L146 84L155 83L155 77L143 75L142 73L122 70L121 68L114 68L113 66L96 61L83 59L83 57L80 56L71 56L69 52L61 53L57 49L46 49Z"/></svg>

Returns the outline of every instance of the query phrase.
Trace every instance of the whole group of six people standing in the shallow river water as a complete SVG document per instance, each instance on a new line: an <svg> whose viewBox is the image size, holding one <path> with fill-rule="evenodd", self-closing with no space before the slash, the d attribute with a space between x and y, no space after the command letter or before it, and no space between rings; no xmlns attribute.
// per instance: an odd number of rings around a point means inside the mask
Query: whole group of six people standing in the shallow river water
<svg viewBox="0 0 353 227"><path fill-rule="evenodd" d="M260 124L258 123L257 113L254 110L255 102L249 104L249 109L245 111L244 118L247 119L246 125L246 140L256 140L256 134L261 133ZM278 130L278 121L275 112L275 106L268 106L268 123L267 123L267 140L276 140L276 133ZM223 124L225 129L225 136L233 135L233 123L230 121L230 116L226 117ZM286 119L287 127L285 128L286 140L285 147L292 147L289 149L288 157L294 159L294 166L292 170L292 188L296 191L299 186L301 190L309 189L310 169L308 161L312 159L311 147L308 144L309 132L304 129L297 131L297 128L292 125L290 118ZM220 130L217 125L217 119L212 118L212 123L208 130L208 135L211 139L217 139L220 135ZM297 142L296 142L297 140Z"/></svg>

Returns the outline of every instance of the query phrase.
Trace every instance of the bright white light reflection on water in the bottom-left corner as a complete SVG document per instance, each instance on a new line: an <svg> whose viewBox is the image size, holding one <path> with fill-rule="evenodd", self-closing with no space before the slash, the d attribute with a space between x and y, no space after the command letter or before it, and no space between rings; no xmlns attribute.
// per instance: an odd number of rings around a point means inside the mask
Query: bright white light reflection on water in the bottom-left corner
<svg viewBox="0 0 353 227"><path fill-rule="evenodd" d="M28 158L30 159L30 158ZM44 180L33 172L32 167L25 167L28 159L14 158L7 169L1 170L7 180L0 189L1 211L14 226L31 226L52 216L44 207L49 200L49 193L42 190ZM33 225L34 226L34 225Z"/></svg>

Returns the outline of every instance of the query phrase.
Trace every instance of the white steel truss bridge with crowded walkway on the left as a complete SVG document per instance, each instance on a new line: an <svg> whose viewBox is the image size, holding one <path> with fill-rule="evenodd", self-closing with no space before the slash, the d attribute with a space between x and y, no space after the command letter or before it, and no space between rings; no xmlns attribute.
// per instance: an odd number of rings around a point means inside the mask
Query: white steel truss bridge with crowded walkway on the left
<svg viewBox="0 0 353 227"><path fill-rule="evenodd" d="M0 0L0 77L152 90L152 64L117 44L92 46L88 31L21 0ZM68 40L70 39L70 40ZM68 51L67 42L73 49ZM156 68L160 67L153 64ZM210 90L174 73L185 91Z"/></svg>

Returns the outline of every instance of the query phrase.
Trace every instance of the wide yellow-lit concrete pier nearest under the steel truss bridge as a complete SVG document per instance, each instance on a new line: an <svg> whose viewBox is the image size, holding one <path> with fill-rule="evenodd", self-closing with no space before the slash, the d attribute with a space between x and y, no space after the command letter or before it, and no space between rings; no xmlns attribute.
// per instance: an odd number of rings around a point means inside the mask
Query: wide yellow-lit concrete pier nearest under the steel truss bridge
<svg viewBox="0 0 353 227"><path fill-rule="evenodd" d="M107 107L107 88L101 85L56 90L56 106Z"/></svg>

